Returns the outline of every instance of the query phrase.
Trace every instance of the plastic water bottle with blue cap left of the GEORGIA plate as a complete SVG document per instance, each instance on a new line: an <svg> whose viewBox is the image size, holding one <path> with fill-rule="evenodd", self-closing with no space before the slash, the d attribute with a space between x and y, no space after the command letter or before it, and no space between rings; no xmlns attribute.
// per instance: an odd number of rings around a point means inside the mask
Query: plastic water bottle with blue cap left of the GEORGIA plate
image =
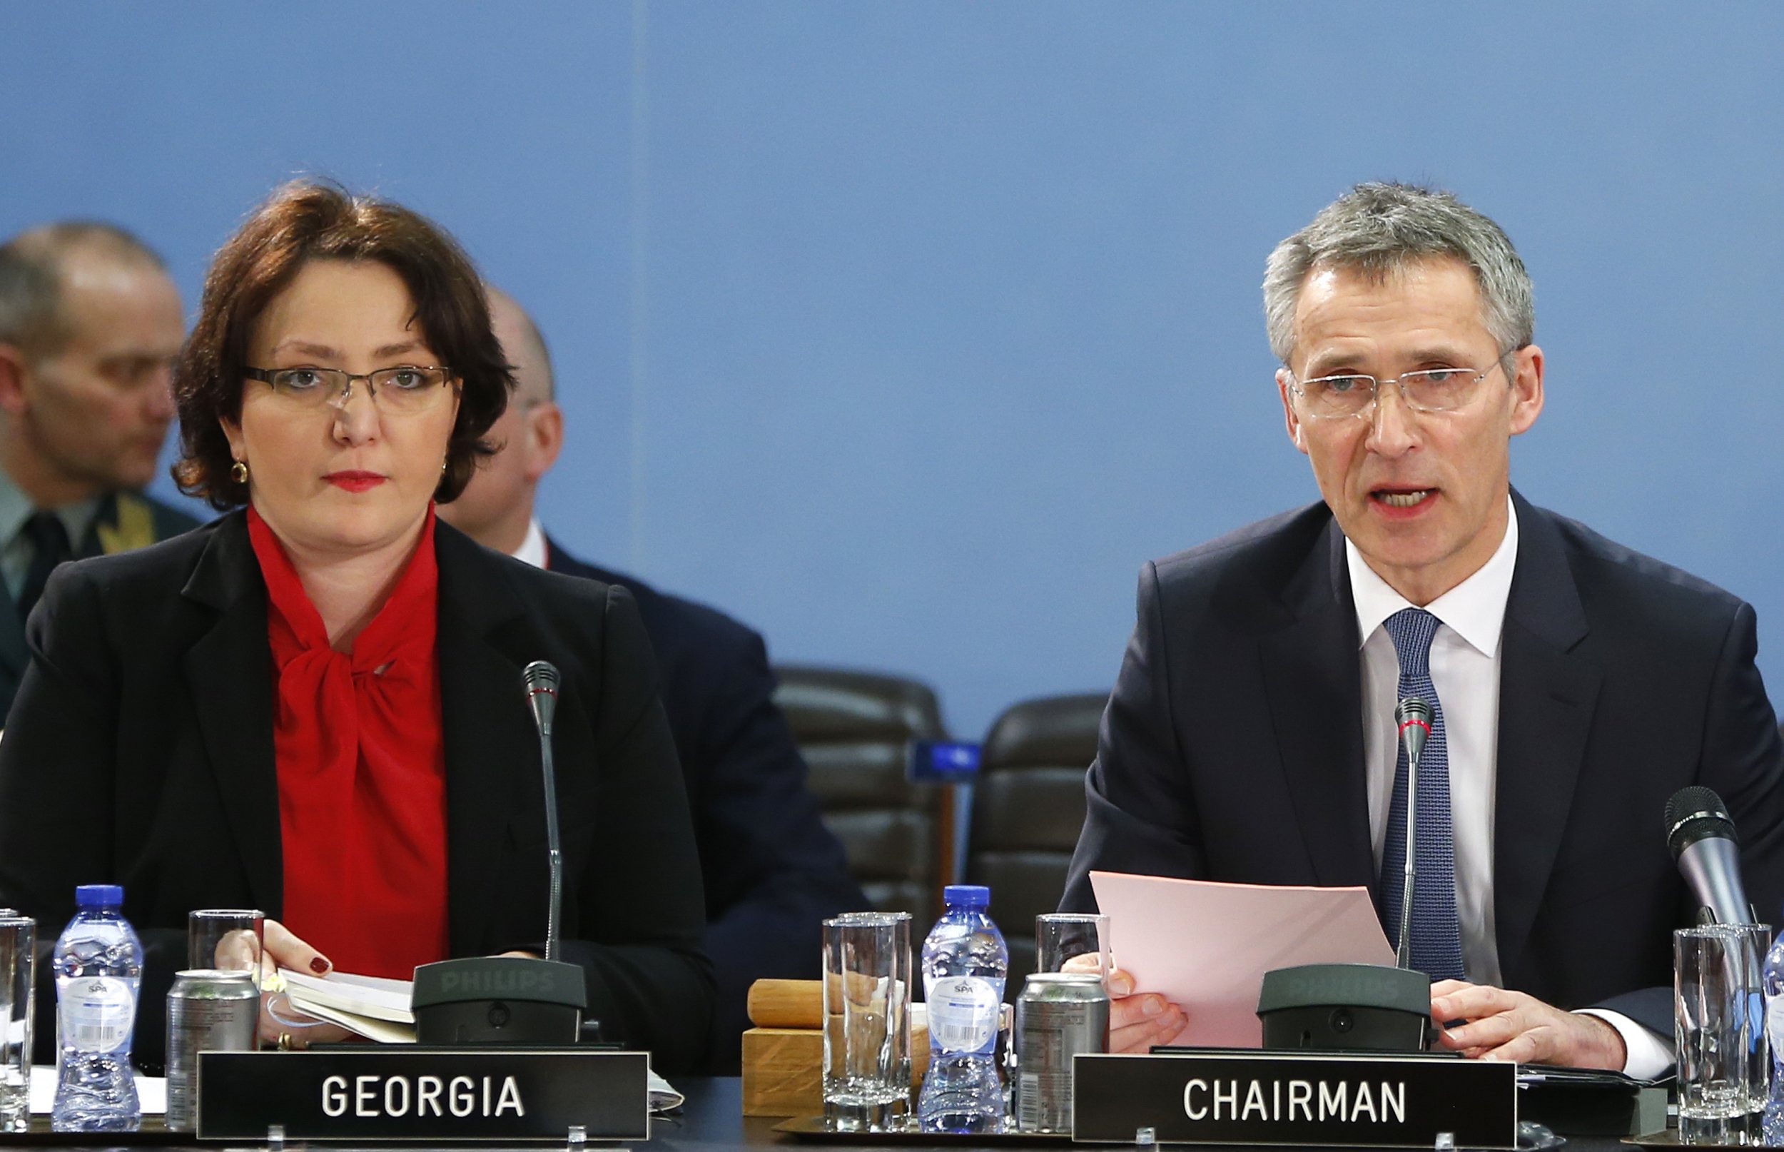
<svg viewBox="0 0 1784 1152"><path fill-rule="evenodd" d="M61 1066L50 1127L57 1132L134 1132L143 1120L130 1072L143 942L118 911L121 904L118 885L80 885L78 911L55 942Z"/></svg>

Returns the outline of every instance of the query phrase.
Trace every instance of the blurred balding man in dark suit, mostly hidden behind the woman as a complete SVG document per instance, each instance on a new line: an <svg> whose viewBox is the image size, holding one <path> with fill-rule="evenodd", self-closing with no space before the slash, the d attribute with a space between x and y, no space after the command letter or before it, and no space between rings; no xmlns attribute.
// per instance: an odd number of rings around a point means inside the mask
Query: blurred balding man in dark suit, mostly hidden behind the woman
<svg viewBox="0 0 1784 1152"><path fill-rule="evenodd" d="M533 499L564 446L551 355L512 298L491 289L489 307L517 387L489 432L501 451L439 514L487 547L553 572L624 585L637 597L657 649L706 886L706 952L719 977L712 1068L735 1072L739 1038L749 1027L749 984L815 979L819 922L865 909L867 897L849 879L842 845L806 792L805 760L772 701L762 637L714 608L583 564L544 533Z"/></svg>

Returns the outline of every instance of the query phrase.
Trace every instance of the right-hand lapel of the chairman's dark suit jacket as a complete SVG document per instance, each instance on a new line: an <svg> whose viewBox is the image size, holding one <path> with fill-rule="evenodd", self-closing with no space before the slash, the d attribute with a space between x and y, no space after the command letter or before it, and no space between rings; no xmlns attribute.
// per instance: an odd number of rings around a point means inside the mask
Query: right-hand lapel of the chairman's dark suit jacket
<svg viewBox="0 0 1784 1152"><path fill-rule="evenodd" d="M1566 829L1602 671L1573 649L1586 610L1552 517L1513 494L1518 564L1499 665L1493 909L1509 979Z"/></svg>

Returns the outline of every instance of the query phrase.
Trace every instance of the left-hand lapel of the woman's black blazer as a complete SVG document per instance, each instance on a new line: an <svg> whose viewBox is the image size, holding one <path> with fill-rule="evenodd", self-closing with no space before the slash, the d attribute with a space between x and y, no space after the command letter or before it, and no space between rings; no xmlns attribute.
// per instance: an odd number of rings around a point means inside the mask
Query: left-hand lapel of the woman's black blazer
<svg viewBox="0 0 1784 1152"><path fill-rule="evenodd" d="M278 769L273 758L273 676L266 640L266 585L243 515L225 521L200 555L182 596L218 612L186 653L218 792L235 829L255 902L284 908Z"/></svg>

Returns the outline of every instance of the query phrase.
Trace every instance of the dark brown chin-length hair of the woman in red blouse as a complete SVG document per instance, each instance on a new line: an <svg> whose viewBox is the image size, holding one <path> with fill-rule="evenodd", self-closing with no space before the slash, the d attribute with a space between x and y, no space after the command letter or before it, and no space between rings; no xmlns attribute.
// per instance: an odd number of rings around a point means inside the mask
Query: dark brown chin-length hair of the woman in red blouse
<svg viewBox="0 0 1784 1152"><path fill-rule="evenodd" d="M241 419L248 337L309 260L376 260L409 285L414 323L458 380L458 419L434 490L441 503L457 499L476 458L496 451L483 433L514 391L501 344L489 330L483 282L457 241L419 212L312 180L273 193L211 262L198 323L173 373L180 408L173 480L218 510L248 503L248 485L230 476L235 460L219 421Z"/></svg>

